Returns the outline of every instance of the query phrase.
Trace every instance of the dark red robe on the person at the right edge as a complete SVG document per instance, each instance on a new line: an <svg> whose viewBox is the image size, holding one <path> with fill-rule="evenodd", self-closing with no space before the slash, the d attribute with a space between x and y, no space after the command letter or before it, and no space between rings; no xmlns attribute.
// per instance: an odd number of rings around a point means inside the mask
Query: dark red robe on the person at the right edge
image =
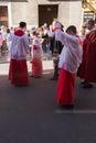
<svg viewBox="0 0 96 143"><path fill-rule="evenodd" d="M96 30L86 35L83 44L83 61L77 76L88 82L96 82Z"/></svg>

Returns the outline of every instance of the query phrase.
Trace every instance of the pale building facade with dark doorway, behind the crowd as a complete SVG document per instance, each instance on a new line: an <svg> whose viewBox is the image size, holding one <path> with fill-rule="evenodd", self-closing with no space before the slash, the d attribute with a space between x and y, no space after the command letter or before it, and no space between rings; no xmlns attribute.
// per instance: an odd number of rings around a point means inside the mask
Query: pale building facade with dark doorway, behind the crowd
<svg viewBox="0 0 96 143"><path fill-rule="evenodd" d="M74 24L77 29L83 23L82 0L76 1L49 1L49 0L12 0L0 1L0 24L8 26L18 25L25 21L28 26L41 26L43 23L51 24L57 19L65 29Z"/></svg>

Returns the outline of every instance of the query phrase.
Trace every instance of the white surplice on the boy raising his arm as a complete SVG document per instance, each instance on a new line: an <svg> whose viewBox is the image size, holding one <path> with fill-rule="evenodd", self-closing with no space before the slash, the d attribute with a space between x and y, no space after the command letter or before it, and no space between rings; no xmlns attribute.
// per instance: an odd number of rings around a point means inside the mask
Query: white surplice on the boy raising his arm
<svg viewBox="0 0 96 143"><path fill-rule="evenodd" d="M55 31L55 38L64 45L60 55L58 68L76 73L83 55L83 47L79 45L78 37L57 30Z"/></svg>

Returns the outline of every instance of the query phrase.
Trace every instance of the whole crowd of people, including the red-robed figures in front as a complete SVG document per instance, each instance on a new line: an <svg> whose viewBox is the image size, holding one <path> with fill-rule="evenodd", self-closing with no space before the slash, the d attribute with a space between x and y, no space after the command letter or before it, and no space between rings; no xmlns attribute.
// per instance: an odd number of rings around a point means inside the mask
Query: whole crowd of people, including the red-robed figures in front
<svg viewBox="0 0 96 143"><path fill-rule="evenodd" d="M88 31L87 31L88 30ZM6 32L8 29L6 29ZM0 36L6 35L1 29ZM0 37L7 40L10 53L9 80L15 86L29 86L26 54L31 54L32 77L43 75L42 55L49 53L53 57L54 74L51 80L57 80L57 105L64 108L74 106L75 77L81 78L83 88L93 88L96 82L96 25L88 20L77 34L75 25L64 31L63 25L54 20L47 28L26 31L26 23L20 22L19 28ZM0 45L2 47L2 45Z"/></svg>

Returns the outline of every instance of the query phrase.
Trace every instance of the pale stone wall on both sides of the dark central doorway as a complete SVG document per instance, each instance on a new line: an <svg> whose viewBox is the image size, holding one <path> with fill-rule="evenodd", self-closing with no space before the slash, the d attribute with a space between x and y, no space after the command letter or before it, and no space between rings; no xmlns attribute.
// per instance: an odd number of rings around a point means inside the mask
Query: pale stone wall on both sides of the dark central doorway
<svg viewBox="0 0 96 143"><path fill-rule="evenodd" d="M12 24L26 21L28 25L39 25L39 4L58 4L58 20L65 29L75 24L79 29L82 24L82 1L50 2L47 0L29 0L28 2L12 2Z"/></svg>

